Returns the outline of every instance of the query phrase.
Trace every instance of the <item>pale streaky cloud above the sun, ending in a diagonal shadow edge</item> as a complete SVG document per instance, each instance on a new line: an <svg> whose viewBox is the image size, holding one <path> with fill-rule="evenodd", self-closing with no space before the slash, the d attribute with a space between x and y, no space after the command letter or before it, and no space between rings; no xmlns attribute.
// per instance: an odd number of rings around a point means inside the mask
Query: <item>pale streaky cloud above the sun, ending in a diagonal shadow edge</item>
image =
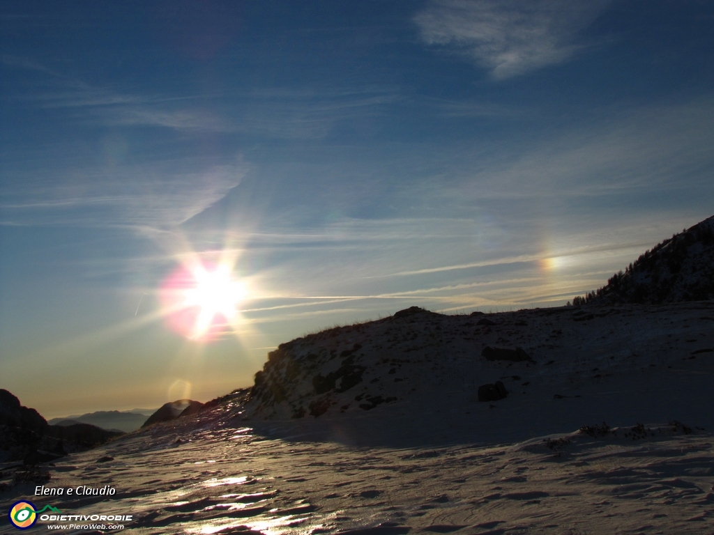
<svg viewBox="0 0 714 535"><path fill-rule="evenodd" d="M173 228L241 182L243 163L182 159L118 169L56 171L51 183L16 175L0 194L2 224L74 223Z"/></svg>

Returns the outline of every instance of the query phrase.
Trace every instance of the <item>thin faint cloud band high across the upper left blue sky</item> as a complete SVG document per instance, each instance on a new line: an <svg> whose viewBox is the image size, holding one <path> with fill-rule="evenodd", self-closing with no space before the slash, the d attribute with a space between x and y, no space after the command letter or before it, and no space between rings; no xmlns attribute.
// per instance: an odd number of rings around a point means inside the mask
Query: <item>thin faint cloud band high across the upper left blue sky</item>
<svg viewBox="0 0 714 535"><path fill-rule="evenodd" d="M245 93L136 94L86 83L31 58L4 54L0 63L39 74L29 93L14 102L64 110L74 120L100 126L157 127L181 132L243 133L260 138L317 139L340 121L374 116L397 100L397 88L260 88ZM228 103L228 98L233 102ZM223 108L222 113L216 110ZM493 112L490 112L493 113Z"/></svg>

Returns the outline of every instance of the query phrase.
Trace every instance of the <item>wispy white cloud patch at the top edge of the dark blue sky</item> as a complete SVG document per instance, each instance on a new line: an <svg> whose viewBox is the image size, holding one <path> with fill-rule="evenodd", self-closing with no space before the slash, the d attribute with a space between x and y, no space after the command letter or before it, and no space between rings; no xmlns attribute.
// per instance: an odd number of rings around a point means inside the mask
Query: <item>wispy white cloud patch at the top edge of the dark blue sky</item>
<svg viewBox="0 0 714 535"><path fill-rule="evenodd" d="M471 56L496 79L561 63L609 0L432 0L414 17L431 45Z"/></svg>

